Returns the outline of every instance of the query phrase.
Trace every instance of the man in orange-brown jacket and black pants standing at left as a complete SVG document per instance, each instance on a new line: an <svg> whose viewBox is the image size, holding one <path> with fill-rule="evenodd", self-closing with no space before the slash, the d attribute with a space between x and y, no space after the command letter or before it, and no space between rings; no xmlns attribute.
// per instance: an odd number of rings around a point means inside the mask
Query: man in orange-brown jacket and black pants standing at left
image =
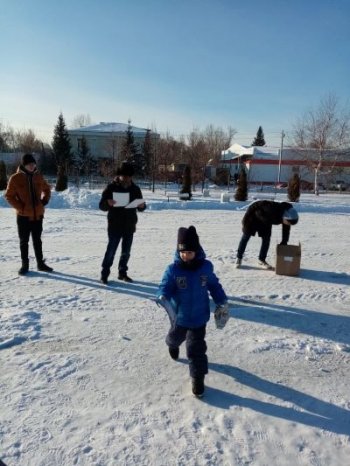
<svg viewBox="0 0 350 466"><path fill-rule="evenodd" d="M38 270L52 272L45 264L42 251L41 234L45 206L51 197L51 188L38 172L36 160L32 154L24 154L17 172L11 176L5 198L16 209L17 229L21 250L22 266L19 275L29 271L29 238L32 236Z"/></svg>

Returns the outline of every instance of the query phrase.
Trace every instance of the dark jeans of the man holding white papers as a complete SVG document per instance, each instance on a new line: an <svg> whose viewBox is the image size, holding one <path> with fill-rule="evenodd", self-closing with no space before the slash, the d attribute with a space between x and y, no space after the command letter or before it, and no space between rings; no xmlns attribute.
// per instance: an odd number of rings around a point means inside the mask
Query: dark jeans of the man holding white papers
<svg viewBox="0 0 350 466"><path fill-rule="evenodd" d="M114 256L117 252L118 245L120 241L122 242L122 252L119 259L118 271L119 275L125 275L128 270L128 262L130 259L130 251L132 246L132 241L134 238L133 233L123 234L116 233L113 231L108 231L108 245L106 253L102 262L102 271L101 276L103 278L108 278L111 273L111 267L113 265Z"/></svg>

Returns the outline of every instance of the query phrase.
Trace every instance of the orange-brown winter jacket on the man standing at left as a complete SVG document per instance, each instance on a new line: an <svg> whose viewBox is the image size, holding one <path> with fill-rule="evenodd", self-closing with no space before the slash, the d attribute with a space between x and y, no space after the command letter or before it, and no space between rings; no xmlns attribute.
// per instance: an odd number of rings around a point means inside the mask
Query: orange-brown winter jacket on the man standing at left
<svg viewBox="0 0 350 466"><path fill-rule="evenodd" d="M30 192L29 176L33 176L34 200ZM17 173L11 176L5 192L5 199L16 209L18 215L38 220L44 216L44 205L51 197L51 188L41 173L28 175L19 166Z"/></svg>

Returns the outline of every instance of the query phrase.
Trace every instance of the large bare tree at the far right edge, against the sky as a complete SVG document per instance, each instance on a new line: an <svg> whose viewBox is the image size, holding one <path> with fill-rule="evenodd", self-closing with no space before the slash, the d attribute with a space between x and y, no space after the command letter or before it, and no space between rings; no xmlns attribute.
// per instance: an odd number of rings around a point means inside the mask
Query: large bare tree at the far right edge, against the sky
<svg viewBox="0 0 350 466"><path fill-rule="evenodd" d="M328 94L316 109L307 111L294 125L293 145L303 149L309 170L314 172L314 190L318 194L319 175L332 175L336 162L350 142L350 112L341 108L339 99Z"/></svg>

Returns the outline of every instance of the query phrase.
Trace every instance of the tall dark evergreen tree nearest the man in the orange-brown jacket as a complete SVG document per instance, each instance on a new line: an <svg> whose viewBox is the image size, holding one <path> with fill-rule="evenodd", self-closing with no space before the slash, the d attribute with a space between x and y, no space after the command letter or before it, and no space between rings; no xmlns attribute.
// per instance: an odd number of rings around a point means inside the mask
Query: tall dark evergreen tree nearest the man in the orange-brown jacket
<svg viewBox="0 0 350 466"><path fill-rule="evenodd" d="M58 116L52 141L52 149L57 166L56 191L64 191L68 187L68 170L72 163L72 146L62 113Z"/></svg>

